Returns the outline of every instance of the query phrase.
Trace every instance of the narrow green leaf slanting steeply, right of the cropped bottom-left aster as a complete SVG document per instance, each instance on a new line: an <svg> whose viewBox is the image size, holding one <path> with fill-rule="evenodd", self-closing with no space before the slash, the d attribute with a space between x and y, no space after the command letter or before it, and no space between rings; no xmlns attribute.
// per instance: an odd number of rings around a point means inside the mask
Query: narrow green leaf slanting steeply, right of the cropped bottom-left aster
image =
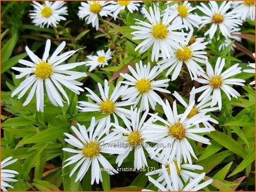
<svg viewBox="0 0 256 192"><path fill-rule="evenodd" d="M38 152L32 153L24 161L24 163L22 165L22 176L23 176L23 178L26 177L30 173L30 170L32 169L32 167L34 167L34 165L36 163L36 160L38 159L38 157L40 157L40 154L42 153L44 148L46 148L46 146L47 146L47 144L44 145L40 150L38 150Z"/></svg>

